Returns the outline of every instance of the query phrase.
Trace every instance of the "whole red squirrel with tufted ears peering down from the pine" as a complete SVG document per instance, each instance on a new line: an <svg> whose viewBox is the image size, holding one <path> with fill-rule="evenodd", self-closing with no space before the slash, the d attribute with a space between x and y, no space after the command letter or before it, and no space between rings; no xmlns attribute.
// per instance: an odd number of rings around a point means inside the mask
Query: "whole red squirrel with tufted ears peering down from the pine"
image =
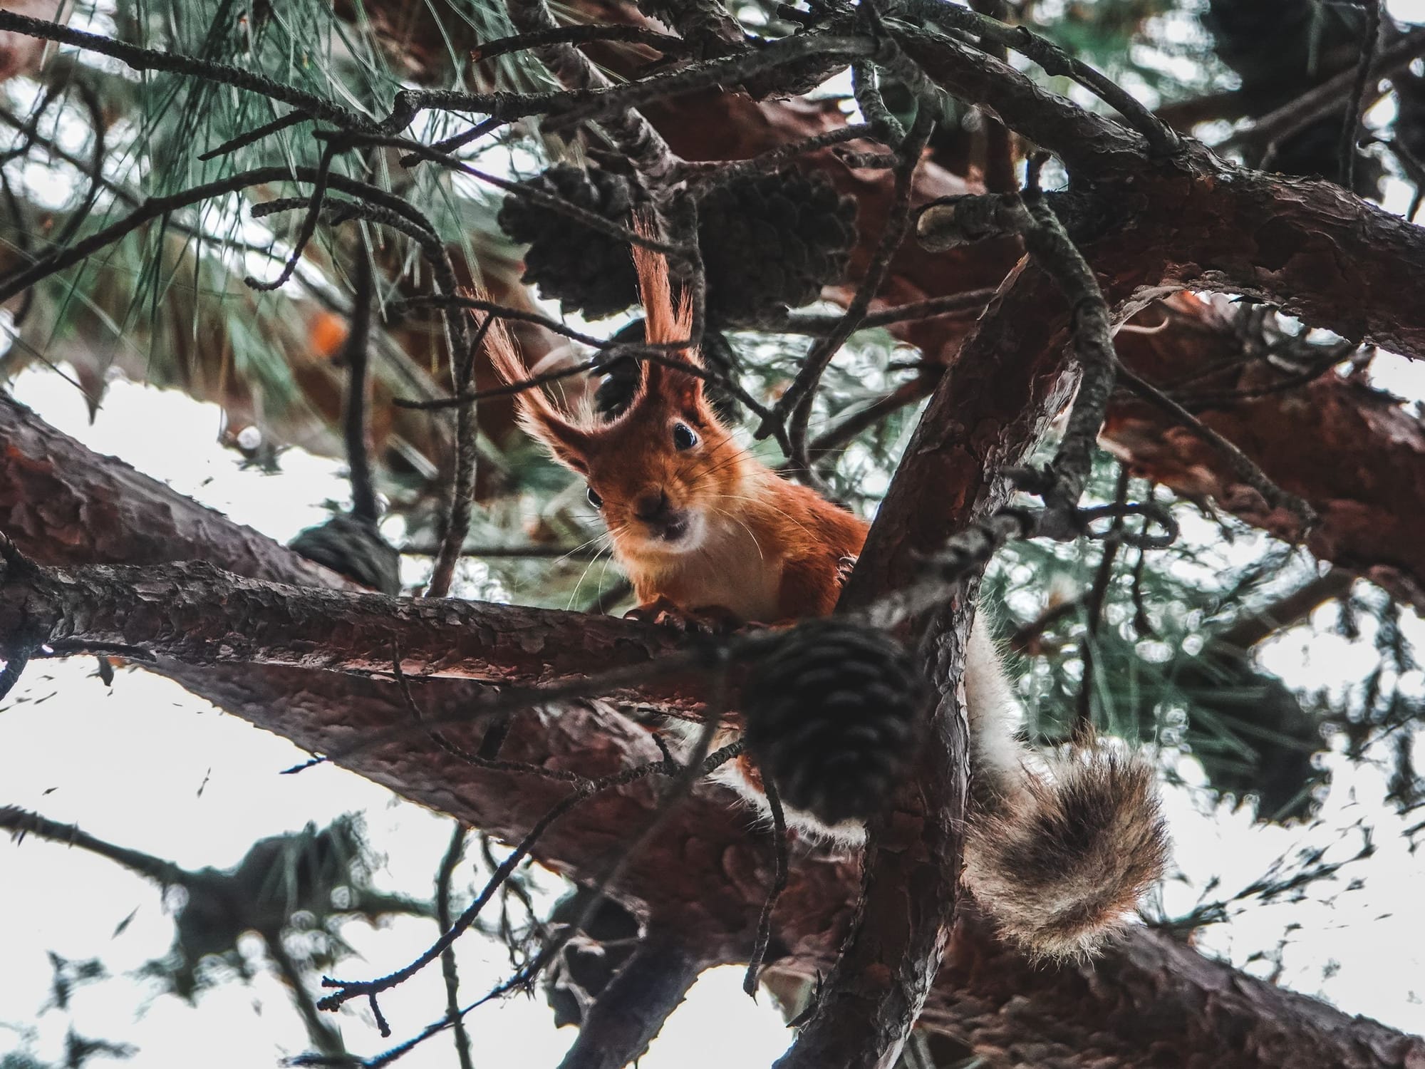
<svg viewBox="0 0 1425 1069"><path fill-rule="evenodd" d="M648 342L688 336L688 302L674 305L667 262L636 248ZM529 378L494 324L487 351L507 383ZM683 351L677 359L697 362ZM704 399L703 379L641 362L633 402L616 418L561 412L537 388L519 393L520 422L587 480L640 606L631 616L788 621L826 616L869 525L748 453ZM1002 935L1033 956L1094 952L1159 879L1166 837L1151 768L1102 750L1045 760L1016 737L1016 701L983 624L970 631L965 696L972 735L972 820L965 881ZM730 783L765 811L755 768ZM825 828L788 811L802 832L841 842L858 827Z"/></svg>

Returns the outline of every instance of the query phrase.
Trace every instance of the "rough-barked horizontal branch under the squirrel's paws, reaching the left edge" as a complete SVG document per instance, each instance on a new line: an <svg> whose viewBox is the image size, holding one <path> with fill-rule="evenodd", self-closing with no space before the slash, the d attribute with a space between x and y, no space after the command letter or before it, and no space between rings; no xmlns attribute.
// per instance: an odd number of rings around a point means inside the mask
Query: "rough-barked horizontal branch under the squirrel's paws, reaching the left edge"
<svg viewBox="0 0 1425 1069"><path fill-rule="evenodd" d="M409 676L514 686L648 664L680 646L667 627L610 616L304 589L244 579L207 560L10 574L0 587L0 634L130 646L198 666L385 674L399 654ZM653 678L638 688L651 701L675 703L678 693Z"/></svg>

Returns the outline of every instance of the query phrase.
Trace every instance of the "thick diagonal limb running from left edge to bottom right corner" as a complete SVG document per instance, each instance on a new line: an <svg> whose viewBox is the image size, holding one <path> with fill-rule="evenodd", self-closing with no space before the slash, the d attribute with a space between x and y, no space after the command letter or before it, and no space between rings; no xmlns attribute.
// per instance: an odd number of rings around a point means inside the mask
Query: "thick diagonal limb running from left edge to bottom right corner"
<svg viewBox="0 0 1425 1069"><path fill-rule="evenodd" d="M973 382L960 373L962 385ZM31 559L204 557L256 576L294 579L295 572L308 576L305 582L341 583L127 465L90 453L13 402L0 401L0 429L7 442L0 453L0 527ZM896 496L911 505L905 497L912 493L906 485ZM160 667L229 713L312 751L341 751L409 723L398 687L385 680L276 667ZM467 708L482 693L460 680L415 680L412 687L432 718ZM573 706L517 717L502 755L597 777L657 760L658 753L644 728L607 708ZM422 734L343 764L506 841L519 841L567 794L561 783L473 768ZM542 837L536 854L543 864L587 877L657 805L647 784L590 798ZM705 787L631 858L611 889L677 925L698 946L703 965L740 962L751 952L771 882L770 855L765 841L748 832L745 811ZM774 946L792 949L771 968L804 978L825 971L855 887L849 865L798 859L784 908L774 915ZM962 1036L993 1059L1012 1050L1039 1065L1035 1052L1046 1049L1059 1059L1052 1065L1077 1069L1099 1053L1100 1065L1140 1063L1151 1049L1164 1066L1180 1069L1406 1069L1425 1058L1419 1039L1247 978L1151 932L1130 934L1094 969L1042 969L998 946L983 926L962 921L948 955L922 1023ZM1204 1013L1208 1005L1211 1015ZM1076 1060L1080 1042L1086 1053Z"/></svg>

